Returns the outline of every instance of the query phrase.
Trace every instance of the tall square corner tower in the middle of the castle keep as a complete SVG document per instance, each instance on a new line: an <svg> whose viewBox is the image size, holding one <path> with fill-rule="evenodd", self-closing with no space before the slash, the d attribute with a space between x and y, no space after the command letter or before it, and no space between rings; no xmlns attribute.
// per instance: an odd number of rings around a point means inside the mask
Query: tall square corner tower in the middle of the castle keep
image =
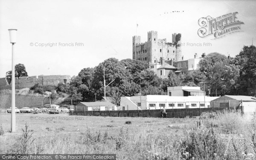
<svg viewBox="0 0 256 160"><path fill-rule="evenodd" d="M157 44L157 31L149 31L148 32L148 54L149 54L149 61L153 62L157 60L157 51L158 51L158 44Z"/></svg>

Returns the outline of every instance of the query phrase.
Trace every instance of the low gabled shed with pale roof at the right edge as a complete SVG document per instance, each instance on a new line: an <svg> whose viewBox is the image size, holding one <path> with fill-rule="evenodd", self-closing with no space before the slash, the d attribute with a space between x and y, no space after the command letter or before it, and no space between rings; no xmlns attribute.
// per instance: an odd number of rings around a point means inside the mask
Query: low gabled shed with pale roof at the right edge
<svg viewBox="0 0 256 160"><path fill-rule="evenodd" d="M239 108L243 113L253 114L256 112L256 97L253 96L231 96L224 95L212 100L211 107L214 108Z"/></svg>

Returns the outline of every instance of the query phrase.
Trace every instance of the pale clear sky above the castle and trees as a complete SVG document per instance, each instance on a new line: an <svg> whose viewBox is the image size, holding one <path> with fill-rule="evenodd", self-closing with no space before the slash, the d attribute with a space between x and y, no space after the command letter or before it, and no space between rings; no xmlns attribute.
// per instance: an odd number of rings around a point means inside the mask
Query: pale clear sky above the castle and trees
<svg viewBox="0 0 256 160"><path fill-rule="evenodd" d="M107 58L132 58L132 36L145 42L148 31L168 42L181 33L184 59L203 52L234 57L252 40L256 44L255 8L253 0L0 0L0 77L12 70L11 28L18 29L15 64L24 64L29 76L76 76ZM243 32L198 36L201 17L230 12L239 13ZM211 46L196 46L203 43Z"/></svg>

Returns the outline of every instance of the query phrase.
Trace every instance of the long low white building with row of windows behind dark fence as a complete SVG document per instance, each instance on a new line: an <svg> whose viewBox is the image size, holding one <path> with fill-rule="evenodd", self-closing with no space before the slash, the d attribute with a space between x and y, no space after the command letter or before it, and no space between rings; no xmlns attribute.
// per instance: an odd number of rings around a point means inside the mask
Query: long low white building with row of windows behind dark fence
<svg viewBox="0 0 256 160"><path fill-rule="evenodd" d="M178 108L210 108L210 102L219 97L209 96L122 96L120 110L155 110Z"/></svg>

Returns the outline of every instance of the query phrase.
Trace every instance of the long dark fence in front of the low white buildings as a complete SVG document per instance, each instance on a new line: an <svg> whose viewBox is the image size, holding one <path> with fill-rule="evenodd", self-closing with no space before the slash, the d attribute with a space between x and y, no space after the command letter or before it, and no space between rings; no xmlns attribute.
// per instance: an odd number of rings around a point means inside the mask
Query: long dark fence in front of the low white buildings
<svg viewBox="0 0 256 160"><path fill-rule="evenodd" d="M200 116L202 112L218 112L228 108L184 108L184 109L166 109L169 118L184 118L186 116ZM230 108L230 110L234 110ZM143 111L70 111L69 115L79 116L119 116L119 117L160 117L160 110L143 110Z"/></svg>

